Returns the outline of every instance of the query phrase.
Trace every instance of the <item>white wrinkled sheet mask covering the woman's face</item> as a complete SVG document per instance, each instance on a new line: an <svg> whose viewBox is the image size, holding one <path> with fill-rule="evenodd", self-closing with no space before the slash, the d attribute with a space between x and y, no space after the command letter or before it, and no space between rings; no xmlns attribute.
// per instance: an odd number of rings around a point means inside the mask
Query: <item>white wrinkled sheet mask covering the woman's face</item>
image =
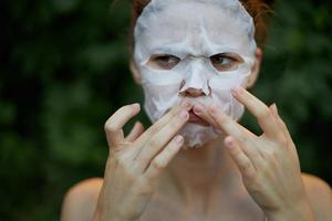
<svg viewBox="0 0 332 221"><path fill-rule="evenodd" d="M217 103L234 119L243 106L230 93L245 86L255 61L252 18L238 0L152 0L137 19L134 59L145 94L145 110L152 122L179 104L183 92L196 88L203 96L189 102ZM243 63L232 71L218 71L210 57L232 53ZM148 65L153 55L173 55L180 61L172 70ZM199 147L219 134L211 127L187 124L180 133L188 147Z"/></svg>

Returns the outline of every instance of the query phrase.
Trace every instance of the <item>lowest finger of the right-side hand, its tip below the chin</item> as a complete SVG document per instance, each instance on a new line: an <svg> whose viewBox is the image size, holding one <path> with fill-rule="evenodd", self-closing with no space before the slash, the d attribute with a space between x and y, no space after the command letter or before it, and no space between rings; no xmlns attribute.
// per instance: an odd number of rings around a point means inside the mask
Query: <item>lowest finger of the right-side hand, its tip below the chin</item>
<svg viewBox="0 0 332 221"><path fill-rule="evenodd" d="M246 156L246 154L240 148L239 144L230 136L225 139L225 146L238 166L241 175L246 178L253 178L256 175L256 168L252 161Z"/></svg>

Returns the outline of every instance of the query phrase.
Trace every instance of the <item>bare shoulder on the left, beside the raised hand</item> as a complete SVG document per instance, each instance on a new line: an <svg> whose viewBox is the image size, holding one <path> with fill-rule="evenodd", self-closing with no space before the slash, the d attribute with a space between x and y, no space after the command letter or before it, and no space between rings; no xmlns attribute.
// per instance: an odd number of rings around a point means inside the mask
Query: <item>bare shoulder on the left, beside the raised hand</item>
<svg viewBox="0 0 332 221"><path fill-rule="evenodd" d="M102 178L92 178L69 189L62 203L61 221L91 221L102 185Z"/></svg>

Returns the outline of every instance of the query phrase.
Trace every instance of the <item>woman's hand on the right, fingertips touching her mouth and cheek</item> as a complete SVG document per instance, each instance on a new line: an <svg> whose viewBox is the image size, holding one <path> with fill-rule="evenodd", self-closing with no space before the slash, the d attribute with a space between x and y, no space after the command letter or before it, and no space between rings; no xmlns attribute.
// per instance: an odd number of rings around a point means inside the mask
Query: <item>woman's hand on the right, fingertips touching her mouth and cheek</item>
<svg viewBox="0 0 332 221"><path fill-rule="evenodd" d="M232 94L258 119L261 136L239 125L216 105L205 110L194 107L194 112L228 135L225 145L243 185L269 221L313 220L297 148L277 106L268 107L241 87L232 90Z"/></svg>

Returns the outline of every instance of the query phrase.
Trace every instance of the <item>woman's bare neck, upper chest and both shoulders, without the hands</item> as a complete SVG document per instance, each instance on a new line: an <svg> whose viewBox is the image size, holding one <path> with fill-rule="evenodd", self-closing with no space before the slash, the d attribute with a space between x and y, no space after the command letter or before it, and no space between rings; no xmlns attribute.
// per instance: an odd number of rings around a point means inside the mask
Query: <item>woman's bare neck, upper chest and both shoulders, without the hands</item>
<svg viewBox="0 0 332 221"><path fill-rule="evenodd" d="M218 144L220 140L201 149L180 150L159 177L139 220L264 220L266 213L248 194L227 147ZM302 180L310 206L302 212L312 212L311 220L329 220L330 187L308 175ZM62 220L91 220L102 185L102 179L94 179L74 187L66 196Z"/></svg>

